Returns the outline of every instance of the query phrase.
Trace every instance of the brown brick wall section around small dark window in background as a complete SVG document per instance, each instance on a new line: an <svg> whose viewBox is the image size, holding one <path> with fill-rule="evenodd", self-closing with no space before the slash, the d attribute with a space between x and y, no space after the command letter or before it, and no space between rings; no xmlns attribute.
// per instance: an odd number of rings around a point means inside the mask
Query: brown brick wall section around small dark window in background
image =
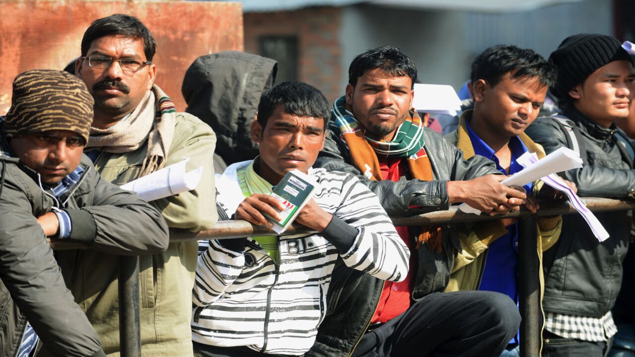
<svg viewBox="0 0 635 357"><path fill-rule="evenodd" d="M340 97L342 55L340 8L308 8L274 13L244 13L244 50L258 53L260 36L298 37L298 79L323 91L330 103Z"/></svg>

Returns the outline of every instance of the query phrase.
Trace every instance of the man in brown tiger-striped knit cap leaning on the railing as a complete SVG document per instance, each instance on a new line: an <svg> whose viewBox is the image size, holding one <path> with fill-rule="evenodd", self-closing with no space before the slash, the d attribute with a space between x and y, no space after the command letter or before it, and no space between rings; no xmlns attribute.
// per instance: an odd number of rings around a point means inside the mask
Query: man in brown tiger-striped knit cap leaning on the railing
<svg viewBox="0 0 635 357"><path fill-rule="evenodd" d="M65 284L74 272L60 269L47 236L128 254L168 244L160 213L100 179L83 156L92 120L93 98L71 74L15 78L0 117L1 356L30 356L38 341L59 356L105 356Z"/></svg>

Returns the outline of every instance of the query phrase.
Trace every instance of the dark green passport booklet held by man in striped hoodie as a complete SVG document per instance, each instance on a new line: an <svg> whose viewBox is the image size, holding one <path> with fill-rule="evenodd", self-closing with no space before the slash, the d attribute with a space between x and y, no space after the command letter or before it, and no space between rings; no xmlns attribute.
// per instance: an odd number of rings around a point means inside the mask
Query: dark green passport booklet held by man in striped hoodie
<svg viewBox="0 0 635 357"><path fill-rule="evenodd" d="M318 182L309 175L298 170L287 172L279 184L274 187L271 196L280 201L284 210L279 211L280 220L265 215L273 224L274 232L280 234L295 220L300 210L313 197Z"/></svg>

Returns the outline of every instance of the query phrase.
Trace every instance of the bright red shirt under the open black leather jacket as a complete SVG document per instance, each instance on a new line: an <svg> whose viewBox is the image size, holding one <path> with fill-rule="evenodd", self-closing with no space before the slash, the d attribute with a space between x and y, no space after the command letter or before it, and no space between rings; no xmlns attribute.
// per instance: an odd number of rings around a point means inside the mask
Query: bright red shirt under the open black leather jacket
<svg viewBox="0 0 635 357"><path fill-rule="evenodd" d="M382 179L399 181L399 177L405 175L407 166L406 161L401 158L378 158L379 168L382 170ZM413 239L410 227L395 227L399 236L406 243L410 251L413 250ZM411 255L414 257L414 255ZM404 281L393 283L385 281L384 290L379 297L377 311L373 315L371 323L385 323L392 318L399 316L410 307L410 294L412 292L412 274L413 258L410 259L410 269Z"/></svg>

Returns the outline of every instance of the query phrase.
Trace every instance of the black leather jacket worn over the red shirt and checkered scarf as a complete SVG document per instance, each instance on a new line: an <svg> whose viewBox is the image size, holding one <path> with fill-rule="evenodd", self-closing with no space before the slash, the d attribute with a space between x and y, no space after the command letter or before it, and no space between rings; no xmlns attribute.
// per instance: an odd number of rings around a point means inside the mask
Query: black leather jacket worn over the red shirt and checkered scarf
<svg viewBox="0 0 635 357"><path fill-rule="evenodd" d="M324 150L320 152L314 167L358 175L377 194L389 215L447 210L448 181L471 180L489 173L500 174L494 163L483 156L476 155L464 160L462 152L454 145L446 142L439 133L425 128L425 151L432 164L433 181L413 180L411 177L402 177L398 182L370 181L364 179L361 172L350 164L351 156L344 142L330 130L326 135ZM455 225L444 225L442 232L443 252L434 253L425 246L417 250L413 300L420 300L432 292L441 292L448 284L455 252L460 250L460 244ZM415 232L416 235L418 232ZM331 276L326 318L319 327L316 343L305 356L348 356L370 323L383 286L382 280L338 264Z"/></svg>

